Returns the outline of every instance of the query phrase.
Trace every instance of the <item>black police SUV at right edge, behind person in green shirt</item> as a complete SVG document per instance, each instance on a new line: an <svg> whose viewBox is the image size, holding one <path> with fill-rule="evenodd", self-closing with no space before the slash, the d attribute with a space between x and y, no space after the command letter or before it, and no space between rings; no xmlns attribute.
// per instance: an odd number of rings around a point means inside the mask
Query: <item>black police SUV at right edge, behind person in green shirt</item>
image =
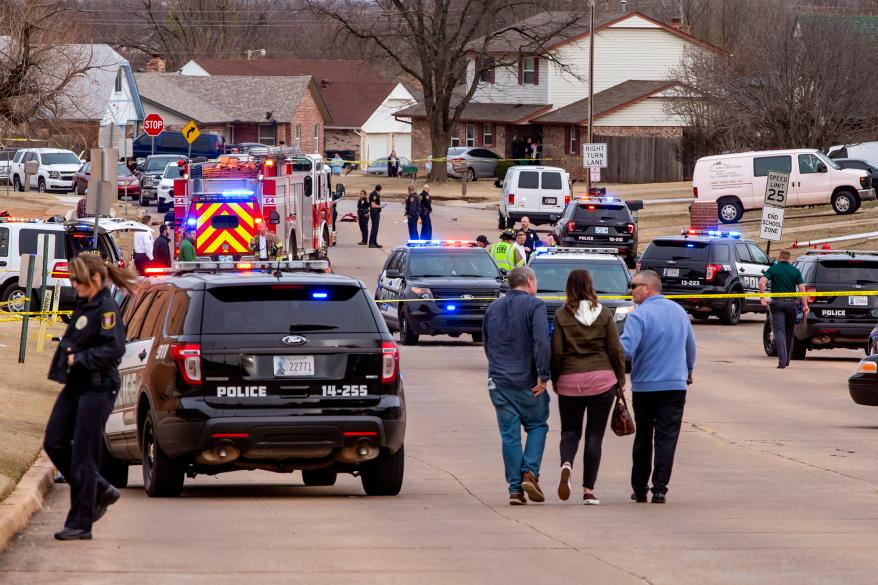
<svg viewBox="0 0 878 585"><path fill-rule="evenodd" d="M846 347L869 353L870 333L878 320L878 297L857 292L878 290L878 252L810 250L795 262L802 273L805 290L842 291L837 296L814 296L808 300L811 313L801 311L793 330L790 358L805 359L809 349ZM775 355L771 327L763 331L768 355Z"/></svg>

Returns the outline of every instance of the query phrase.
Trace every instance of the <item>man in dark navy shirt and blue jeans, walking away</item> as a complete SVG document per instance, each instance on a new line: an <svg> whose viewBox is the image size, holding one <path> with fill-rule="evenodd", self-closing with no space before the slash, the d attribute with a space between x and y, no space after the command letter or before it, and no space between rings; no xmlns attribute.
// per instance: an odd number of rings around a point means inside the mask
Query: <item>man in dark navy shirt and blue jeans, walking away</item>
<svg viewBox="0 0 878 585"><path fill-rule="evenodd" d="M509 293L488 306L482 335L488 357L488 392L497 411L509 503L545 501L540 464L549 432L551 345L546 305L537 294L534 271L518 266L509 272ZM521 427L527 433L521 448Z"/></svg>

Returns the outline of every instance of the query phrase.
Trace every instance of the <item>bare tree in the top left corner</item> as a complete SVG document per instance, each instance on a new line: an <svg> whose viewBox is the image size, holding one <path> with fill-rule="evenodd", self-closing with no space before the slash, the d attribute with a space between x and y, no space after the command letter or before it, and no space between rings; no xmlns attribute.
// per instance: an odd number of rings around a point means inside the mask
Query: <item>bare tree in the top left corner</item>
<svg viewBox="0 0 878 585"><path fill-rule="evenodd" d="M74 10L58 0L0 3L0 136L31 130L76 109L71 88L92 68L73 40Z"/></svg>

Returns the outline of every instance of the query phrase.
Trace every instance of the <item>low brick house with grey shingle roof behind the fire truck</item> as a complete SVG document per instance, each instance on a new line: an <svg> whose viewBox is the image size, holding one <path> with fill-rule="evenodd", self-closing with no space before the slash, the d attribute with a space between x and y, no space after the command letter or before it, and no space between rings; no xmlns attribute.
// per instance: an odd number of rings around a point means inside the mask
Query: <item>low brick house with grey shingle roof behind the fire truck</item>
<svg viewBox="0 0 878 585"><path fill-rule="evenodd" d="M323 152L332 121L313 78L138 73L144 109L179 130L195 120L202 132L222 134L226 144L284 142L304 152Z"/></svg>

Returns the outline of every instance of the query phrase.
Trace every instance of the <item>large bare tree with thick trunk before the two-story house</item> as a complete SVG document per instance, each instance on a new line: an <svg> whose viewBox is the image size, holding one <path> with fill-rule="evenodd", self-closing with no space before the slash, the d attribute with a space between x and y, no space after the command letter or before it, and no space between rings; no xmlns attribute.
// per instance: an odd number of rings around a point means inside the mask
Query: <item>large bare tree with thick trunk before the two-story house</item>
<svg viewBox="0 0 878 585"><path fill-rule="evenodd" d="M545 12L536 0L305 0L305 5L338 23L339 32L377 47L417 81L434 160L445 159L483 68L513 66L523 55L556 61L549 42L581 30L583 22L581 14ZM482 65L468 78L470 60ZM445 165L434 164L430 180L446 178Z"/></svg>

